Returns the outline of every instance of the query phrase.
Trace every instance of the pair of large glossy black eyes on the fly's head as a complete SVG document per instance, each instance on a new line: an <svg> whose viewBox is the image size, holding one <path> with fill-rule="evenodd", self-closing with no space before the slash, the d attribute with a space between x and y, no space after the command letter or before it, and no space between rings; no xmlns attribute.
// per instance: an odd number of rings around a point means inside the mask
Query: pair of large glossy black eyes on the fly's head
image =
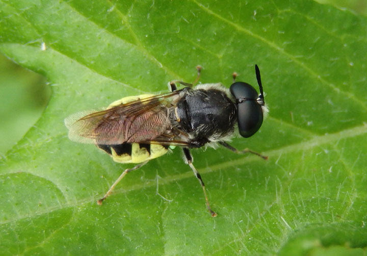
<svg viewBox="0 0 367 256"><path fill-rule="evenodd" d="M263 123L264 114L255 88L244 82L236 82L230 86L230 92L237 101L238 126L242 137L254 135Z"/></svg>

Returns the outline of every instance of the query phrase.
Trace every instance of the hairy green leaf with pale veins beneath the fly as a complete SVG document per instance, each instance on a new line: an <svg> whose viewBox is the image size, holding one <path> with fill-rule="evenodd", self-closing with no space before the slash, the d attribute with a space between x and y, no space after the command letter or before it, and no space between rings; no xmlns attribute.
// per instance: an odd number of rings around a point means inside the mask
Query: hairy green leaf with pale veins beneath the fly
<svg viewBox="0 0 367 256"><path fill-rule="evenodd" d="M0 1L0 50L53 90L0 163L3 255L360 254L367 245L367 20L312 1ZM233 146L129 173L63 120L171 80L256 85L270 114ZM336 252L335 252L336 251Z"/></svg>

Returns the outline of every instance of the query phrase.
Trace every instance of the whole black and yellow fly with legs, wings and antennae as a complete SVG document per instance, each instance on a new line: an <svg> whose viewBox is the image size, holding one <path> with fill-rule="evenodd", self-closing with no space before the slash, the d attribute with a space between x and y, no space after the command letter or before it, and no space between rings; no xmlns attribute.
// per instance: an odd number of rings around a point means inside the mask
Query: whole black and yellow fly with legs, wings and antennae
<svg viewBox="0 0 367 256"><path fill-rule="evenodd" d="M192 164L190 148L219 143L233 152L250 152L267 159L254 151L239 151L226 143L233 136L236 123L240 135L246 138L255 134L263 123L267 108L257 65L255 71L259 95L244 82L234 82L229 90L221 84L192 88L183 82L178 83L188 87L177 90L176 83L170 82L169 93L124 97L105 110L80 112L66 118L71 140L94 143L116 162L137 163L120 175L98 203L111 194L128 172L164 155L169 148L180 146L202 186L208 211L213 217L217 216L209 206L202 178ZM199 72L200 69L198 78Z"/></svg>

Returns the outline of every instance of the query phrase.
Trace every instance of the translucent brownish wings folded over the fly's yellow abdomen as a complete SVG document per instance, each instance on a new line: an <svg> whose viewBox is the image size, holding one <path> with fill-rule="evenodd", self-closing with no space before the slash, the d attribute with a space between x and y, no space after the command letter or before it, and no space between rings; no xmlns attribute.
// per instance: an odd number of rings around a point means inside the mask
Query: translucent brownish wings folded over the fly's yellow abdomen
<svg viewBox="0 0 367 256"><path fill-rule="evenodd" d="M151 141L172 130L169 109L179 91L130 101L109 109L84 111L65 119L70 140L115 145Z"/></svg>

